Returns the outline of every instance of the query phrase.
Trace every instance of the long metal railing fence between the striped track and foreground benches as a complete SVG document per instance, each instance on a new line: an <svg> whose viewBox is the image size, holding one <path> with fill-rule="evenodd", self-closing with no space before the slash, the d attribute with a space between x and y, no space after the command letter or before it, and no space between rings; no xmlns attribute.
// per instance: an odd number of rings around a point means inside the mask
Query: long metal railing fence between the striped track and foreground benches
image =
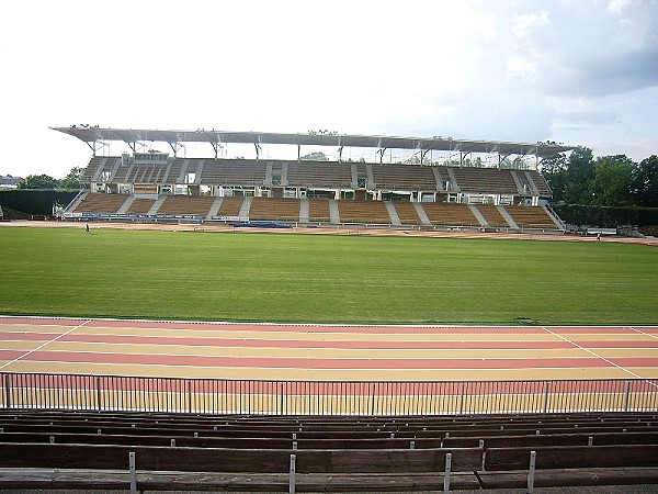
<svg viewBox="0 0 658 494"><path fill-rule="evenodd" d="M253 381L2 372L1 408L254 415L658 411L657 379Z"/></svg>

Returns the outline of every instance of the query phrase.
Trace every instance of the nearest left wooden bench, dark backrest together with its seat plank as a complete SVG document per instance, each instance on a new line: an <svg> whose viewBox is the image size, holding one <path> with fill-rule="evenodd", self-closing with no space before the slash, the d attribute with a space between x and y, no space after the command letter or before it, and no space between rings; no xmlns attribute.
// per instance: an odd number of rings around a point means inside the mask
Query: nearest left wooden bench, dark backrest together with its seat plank
<svg viewBox="0 0 658 494"><path fill-rule="evenodd" d="M294 492L297 485L315 491L479 489L475 472L481 468L483 452L479 448L258 450L5 442L0 444L4 465L0 489L111 489L110 484L126 489L128 483L132 491L147 485L205 490L209 478L213 489L223 491Z"/></svg>

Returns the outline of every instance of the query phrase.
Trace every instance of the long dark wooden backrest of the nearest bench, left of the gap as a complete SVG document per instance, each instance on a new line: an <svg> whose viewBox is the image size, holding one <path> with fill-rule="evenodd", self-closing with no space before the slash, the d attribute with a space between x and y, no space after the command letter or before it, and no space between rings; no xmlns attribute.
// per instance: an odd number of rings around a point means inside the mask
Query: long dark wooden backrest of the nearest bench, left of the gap
<svg viewBox="0 0 658 494"><path fill-rule="evenodd" d="M349 454L341 449L236 449L135 445L0 444L0 463L10 468L128 469L135 452L138 470L224 473L285 473L296 454L297 473L439 473L445 454L454 471L481 467L479 448L363 449Z"/></svg>

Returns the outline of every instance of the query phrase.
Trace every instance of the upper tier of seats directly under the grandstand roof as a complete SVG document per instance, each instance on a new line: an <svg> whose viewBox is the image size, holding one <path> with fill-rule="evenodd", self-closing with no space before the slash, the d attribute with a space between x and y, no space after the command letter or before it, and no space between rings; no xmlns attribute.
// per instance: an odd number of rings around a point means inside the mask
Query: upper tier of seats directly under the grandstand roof
<svg viewBox="0 0 658 494"><path fill-rule="evenodd" d="M283 186L307 188L363 188L354 183L359 177L372 179L368 187L379 190L434 191L443 183L436 177L449 179L445 166L401 164L364 164L340 161L265 161L259 159L200 159L172 158L167 164L134 162L122 165L121 157L94 156L83 172L82 181L111 183L185 183L185 173L198 173L197 183L207 186L264 186L268 183L268 162L275 169L285 168ZM536 170L450 167L462 192L504 193L549 198L551 190ZM356 175L354 177L353 175ZM103 180L100 176L105 175ZM371 181L372 180L372 181ZM373 183L374 182L374 183Z"/></svg>

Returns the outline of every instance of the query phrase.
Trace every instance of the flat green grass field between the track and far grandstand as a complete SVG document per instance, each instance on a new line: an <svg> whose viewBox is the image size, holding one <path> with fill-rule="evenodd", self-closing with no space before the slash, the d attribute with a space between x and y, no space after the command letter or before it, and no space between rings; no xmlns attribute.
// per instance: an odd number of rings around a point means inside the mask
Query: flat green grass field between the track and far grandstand
<svg viewBox="0 0 658 494"><path fill-rule="evenodd" d="M0 228L0 313L656 324L658 250L614 243Z"/></svg>

